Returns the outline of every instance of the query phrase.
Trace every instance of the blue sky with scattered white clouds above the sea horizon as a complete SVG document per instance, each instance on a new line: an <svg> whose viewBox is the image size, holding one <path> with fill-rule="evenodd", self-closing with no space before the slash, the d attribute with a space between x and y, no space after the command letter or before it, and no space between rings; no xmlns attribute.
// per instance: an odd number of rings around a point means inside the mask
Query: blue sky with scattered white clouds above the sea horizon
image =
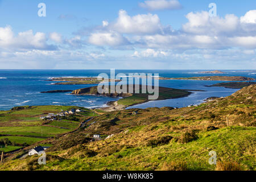
<svg viewBox="0 0 256 182"><path fill-rule="evenodd" d="M0 0L0 69L256 69L255 48L253 0Z"/></svg>

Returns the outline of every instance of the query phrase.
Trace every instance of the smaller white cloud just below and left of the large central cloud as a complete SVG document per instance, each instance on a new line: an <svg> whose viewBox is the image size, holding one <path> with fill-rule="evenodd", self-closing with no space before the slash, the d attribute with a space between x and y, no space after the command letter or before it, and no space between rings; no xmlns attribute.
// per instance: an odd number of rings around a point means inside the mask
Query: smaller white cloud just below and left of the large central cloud
<svg viewBox="0 0 256 182"><path fill-rule="evenodd" d="M119 46L127 43L127 40L118 32L110 31L92 33L88 42L96 46Z"/></svg>

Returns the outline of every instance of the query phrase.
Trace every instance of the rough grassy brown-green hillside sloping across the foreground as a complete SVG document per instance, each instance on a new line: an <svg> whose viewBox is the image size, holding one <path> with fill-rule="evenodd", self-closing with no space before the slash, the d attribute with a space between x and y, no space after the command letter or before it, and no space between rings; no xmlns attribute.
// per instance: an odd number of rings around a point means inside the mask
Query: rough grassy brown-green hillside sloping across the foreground
<svg viewBox="0 0 256 182"><path fill-rule="evenodd" d="M46 165L36 155L16 159L17 152L0 169L255 170L255 105L256 85L250 85L199 106L102 113L84 129L41 142L52 146ZM93 134L103 139L91 142ZM217 152L217 166L208 163L210 151Z"/></svg>

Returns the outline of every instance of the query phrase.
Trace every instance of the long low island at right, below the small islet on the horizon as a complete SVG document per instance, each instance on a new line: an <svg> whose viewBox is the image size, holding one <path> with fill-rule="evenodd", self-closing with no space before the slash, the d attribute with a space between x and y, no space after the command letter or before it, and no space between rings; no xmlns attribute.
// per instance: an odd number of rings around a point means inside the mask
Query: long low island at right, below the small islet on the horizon
<svg viewBox="0 0 256 182"><path fill-rule="evenodd" d="M253 81L255 79L243 76L200 76L188 78L170 78L170 80Z"/></svg>

